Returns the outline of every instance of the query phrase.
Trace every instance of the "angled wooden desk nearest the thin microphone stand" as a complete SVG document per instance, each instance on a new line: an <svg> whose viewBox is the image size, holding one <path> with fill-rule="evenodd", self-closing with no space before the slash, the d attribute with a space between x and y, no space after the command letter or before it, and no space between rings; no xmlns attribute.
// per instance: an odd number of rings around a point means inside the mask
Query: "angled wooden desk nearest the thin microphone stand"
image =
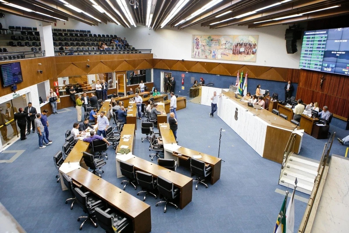
<svg viewBox="0 0 349 233"><path fill-rule="evenodd" d="M167 126L167 127L162 127ZM162 137L162 141L164 144L164 149L170 153L165 153L165 159L172 158L175 159L181 159L180 165L183 165L185 167L189 166L190 169L190 161L189 158L191 158L193 155L201 155L202 158L199 160L204 161L207 163L207 165L212 166L212 172L211 172L211 184L216 183L217 180L221 177L221 159L216 158L214 156L201 153L198 151L194 151L185 147L178 146L176 143L176 139L174 139L173 132L170 130L170 125L168 123L161 124L159 127L159 131ZM185 156L177 156L176 154L183 154Z"/></svg>

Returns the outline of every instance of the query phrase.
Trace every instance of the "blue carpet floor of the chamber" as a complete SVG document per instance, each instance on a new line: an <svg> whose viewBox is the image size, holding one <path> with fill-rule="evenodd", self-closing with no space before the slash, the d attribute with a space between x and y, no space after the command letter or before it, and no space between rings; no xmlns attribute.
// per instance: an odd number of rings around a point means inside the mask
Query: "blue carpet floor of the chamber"
<svg viewBox="0 0 349 233"><path fill-rule="evenodd" d="M277 184L281 165L261 158L219 117L209 118L209 111L210 107L190 102L186 109L177 111L177 140L181 146L217 156L220 129L223 128L220 157L225 162L222 162L221 179L214 185L208 184L208 189L202 185L198 190L193 187L192 202L183 210L169 206L163 213L163 205L155 206L159 200L148 196L151 232L272 232L284 198L275 190L287 189ZM48 118L52 145L39 149L37 134L31 133L27 140L19 140L7 149L25 151L14 162L0 164L0 202L27 232L80 232L80 223L76 219L83 211L78 205L70 210L70 203L65 204L69 193L62 191L61 184L56 183L57 170L53 164L53 155L64 143L65 131L72 129L76 121L76 111L68 108L68 111L62 109L59 112ZM141 143L140 123L138 120L134 154L150 161L149 143ZM348 134L332 125L330 131L336 131L341 138ZM326 141L304 134L300 155L319 160ZM331 153L344 155L345 151L345 146L334 142ZM122 179L116 177L115 151L109 147L107 152L109 159L102 177L122 188ZM0 160L15 153L0 153ZM177 172L190 176L190 171L181 167ZM127 187L125 191L142 199L142 196L136 196L139 190ZM291 196L292 188L289 191ZM300 192L296 195L309 198ZM295 232L305 208L305 202L295 200ZM82 231L104 232L89 222Z"/></svg>

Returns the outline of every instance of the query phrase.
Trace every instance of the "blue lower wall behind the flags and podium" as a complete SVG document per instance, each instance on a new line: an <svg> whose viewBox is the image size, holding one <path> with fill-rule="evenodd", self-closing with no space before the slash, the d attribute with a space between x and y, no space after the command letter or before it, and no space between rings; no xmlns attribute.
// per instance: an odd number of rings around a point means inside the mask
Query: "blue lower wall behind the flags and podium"
<svg viewBox="0 0 349 233"><path fill-rule="evenodd" d="M193 86L193 83L191 83L191 77L194 77L195 80L198 80L200 82L200 77L205 79L205 83L213 82L214 87L218 88L229 88L229 85L233 83L235 85L236 82L236 76L227 76L227 75L214 75L214 74L204 74L204 73L194 73L194 72L184 72L184 71L171 71L171 70L159 70L154 69L153 71L153 80L154 80L154 86L160 87L160 75L161 72L171 72L172 77L176 80L176 85L174 86L174 94L178 95L186 95L189 96L187 93L188 90ZM184 78L184 90L181 89L181 75L185 74ZM243 78L245 80L245 78ZM270 91L270 93L276 92L279 94L279 99L283 100L285 98L285 92L284 92L284 86L286 82L278 82L278 81L270 81L270 80L261 80L261 79L247 79L247 91L251 92L252 95L256 92L257 84L261 85L262 89L267 89ZM293 86L295 88L293 92L293 96L296 96L297 92L297 83L293 83Z"/></svg>

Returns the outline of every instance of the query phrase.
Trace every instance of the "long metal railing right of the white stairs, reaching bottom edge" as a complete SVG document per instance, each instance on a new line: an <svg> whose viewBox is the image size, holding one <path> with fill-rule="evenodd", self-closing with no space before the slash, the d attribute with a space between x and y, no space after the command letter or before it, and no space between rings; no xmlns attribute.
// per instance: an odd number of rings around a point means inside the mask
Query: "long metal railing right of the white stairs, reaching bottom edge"
<svg viewBox="0 0 349 233"><path fill-rule="evenodd" d="M318 201L320 199L320 197L318 197L318 199L317 199L317 195L318 195L320 185L322 185L322 183L321 183L323 181L322 176L324 175L325 168L329 163L329 160L328 160L329 152L331 151L331 147L332 147L333 139L335 138L335 135L336 135L336 132L334 132L331 135L331 137L328 139L328 142L325 143L324 150L322 152L321 160L320 160L319 167L318 167L318 174L315 178L314 188L313 188L313 191L312 191L311 196L309 198L309 202L307 204L307 207L305 209L305 213L304 213L302 222L299 225L299 229L298 229L299 233L305 233L305 232L311 231L311 228L307 229L307 225L308 225L310 218L312 218L312 219L315 218L316 209L314 209L315 212L312 216L310 214L312 213L315 202L318 203ZM322 169L320 170L321 167L322 167Z"/></svg>

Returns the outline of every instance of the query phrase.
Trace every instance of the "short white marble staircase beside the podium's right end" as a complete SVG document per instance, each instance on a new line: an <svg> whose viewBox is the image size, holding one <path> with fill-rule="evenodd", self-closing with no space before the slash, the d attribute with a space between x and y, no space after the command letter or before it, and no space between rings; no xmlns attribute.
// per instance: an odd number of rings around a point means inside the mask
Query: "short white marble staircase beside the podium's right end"
<svg viewBox="0 0 349 233"><path fill-rule="evenodd" d="M297 191L311 194L317 176L319 162L313 162L291 155L281 171L279 184L292 188L297 178Z"/></svg>

